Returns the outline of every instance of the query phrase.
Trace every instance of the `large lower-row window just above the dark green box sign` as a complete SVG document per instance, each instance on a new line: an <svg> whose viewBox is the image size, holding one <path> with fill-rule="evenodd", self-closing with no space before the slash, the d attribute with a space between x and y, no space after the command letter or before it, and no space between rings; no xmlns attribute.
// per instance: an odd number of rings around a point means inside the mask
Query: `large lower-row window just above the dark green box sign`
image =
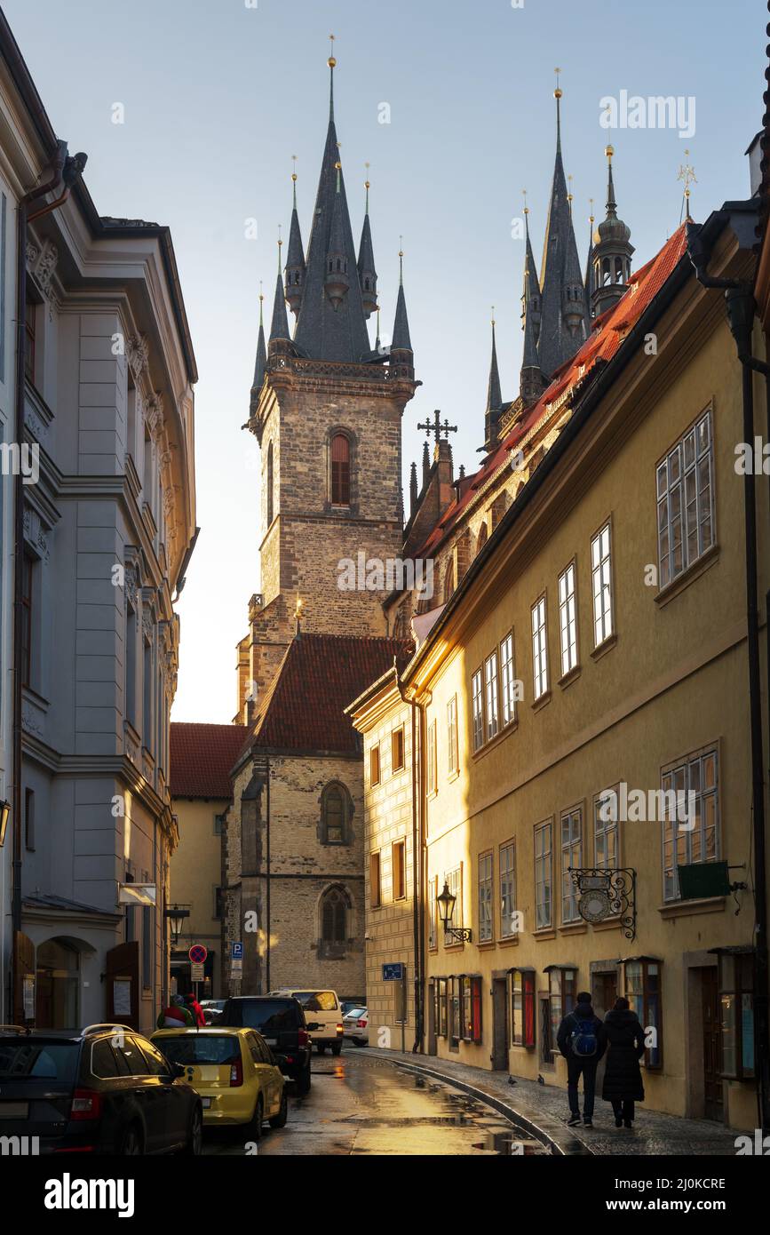
<svg viewBox="0 0 770 1235"><path fill-rule="evenodd" d="M666 768L663 803L663 899L679 900L677 866L719 860L719 766L711 747Z"/></svg>

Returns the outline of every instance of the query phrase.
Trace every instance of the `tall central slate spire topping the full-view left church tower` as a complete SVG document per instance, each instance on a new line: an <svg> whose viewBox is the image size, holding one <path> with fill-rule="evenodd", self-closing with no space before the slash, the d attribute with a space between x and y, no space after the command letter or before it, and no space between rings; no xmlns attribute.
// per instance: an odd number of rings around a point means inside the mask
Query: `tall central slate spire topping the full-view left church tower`
<svg viewBox="0 0 770 1235"><path fill-rule="evenodd" d="M358 279L350 278L355 269L355 247L334 127L336 63L334 57L329 56L328 130L307 242L305 288L294 341L302 354L312 359L358 362L369 354L370 343ZM329 256L333 262L331 272ZM339 259L339 272L337 272L337 259ZM336 282L327 284L327 274L344 274L346 266L348 285L341 288Z"/></svg>

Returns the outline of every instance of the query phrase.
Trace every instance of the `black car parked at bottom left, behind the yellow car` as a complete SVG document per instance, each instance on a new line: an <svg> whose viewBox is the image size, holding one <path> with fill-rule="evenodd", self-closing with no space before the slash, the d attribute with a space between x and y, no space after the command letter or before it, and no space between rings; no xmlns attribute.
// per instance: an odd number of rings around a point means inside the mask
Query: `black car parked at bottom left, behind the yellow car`
<svg viewBox="0 0 770 1235"><path fill-rule="evenodd" d="M38 1137L28 1153L200 1153L184 1072L127 1025L0 1026L0 1136Z"/></svg>

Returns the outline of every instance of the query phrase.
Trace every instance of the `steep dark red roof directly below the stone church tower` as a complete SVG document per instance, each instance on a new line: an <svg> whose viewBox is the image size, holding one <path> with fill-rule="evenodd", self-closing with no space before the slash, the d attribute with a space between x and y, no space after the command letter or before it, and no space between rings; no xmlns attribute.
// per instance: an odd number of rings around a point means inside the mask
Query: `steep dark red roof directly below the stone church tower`
<svg viewBox="0 0 770 1235"><path fill-rule="evenodd" d="M358 734L344 709L394 663L408 661L397 638L302 634L291 640L259 704L241 753L252 746L355 755Z"/></svg>

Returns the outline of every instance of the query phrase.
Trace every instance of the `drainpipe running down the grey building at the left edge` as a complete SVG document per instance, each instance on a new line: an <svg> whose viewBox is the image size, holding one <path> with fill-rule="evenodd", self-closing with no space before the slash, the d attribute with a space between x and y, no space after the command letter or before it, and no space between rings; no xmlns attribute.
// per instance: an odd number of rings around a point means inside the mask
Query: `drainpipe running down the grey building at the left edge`
<svg viewBox="0 0 770 1235"><path fill-rule="evenodd" d="M85 167L86 154L68 156L67 142L58 141L52 157L52 175L44 184L31 189L19 203L16 212L16 442L21 448L23 442L25 412L25 351L26 351L26 312L27 312L27 225L33 219L49 214L62 205ZM37 210L30 207L39 201L52 189L62 186L60 195ZM16 934L21 931L21 760L22 760L22 680L21 680L21 643L22 643L22 557L23 557L23 484L21 469L14 478L14 699L12 699L12 752L11 766L14 777L12 819L14 819L14 856L11 862L11 1004L16 987Z"/></svg>

